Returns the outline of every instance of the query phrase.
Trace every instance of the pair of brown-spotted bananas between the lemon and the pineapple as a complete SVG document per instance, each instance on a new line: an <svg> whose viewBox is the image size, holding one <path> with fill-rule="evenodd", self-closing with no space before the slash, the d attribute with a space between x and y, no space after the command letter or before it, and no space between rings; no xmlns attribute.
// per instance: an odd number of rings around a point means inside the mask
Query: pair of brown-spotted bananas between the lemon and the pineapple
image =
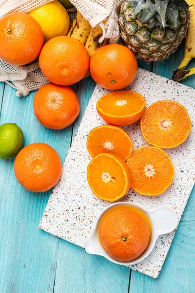
<svg viewBox="0 0 195 293"><path fill-rule="evenodd" d="M102 21L105 24L106 21ZM102 29L98 25L96 27L91 27L89 21L86 21L79 11L73 20L72 26L67 34L69 37L73 37L80 41L86 48L89 57L91 58L98 48L107 45L109 39L104 39L102 43L99 43L99 38L102 36ZM90 76L90 71L86 73L84 78ZM83 78L83 79L84 79Z"/></svg>

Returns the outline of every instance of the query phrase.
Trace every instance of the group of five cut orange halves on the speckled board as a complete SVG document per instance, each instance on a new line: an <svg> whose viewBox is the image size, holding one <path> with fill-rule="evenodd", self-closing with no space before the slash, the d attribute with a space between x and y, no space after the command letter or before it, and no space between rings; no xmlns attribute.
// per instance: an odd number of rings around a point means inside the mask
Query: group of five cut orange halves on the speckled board
<svg viewBox="0 0 195 293"><path fill-rule="evenodd" d="M112 202L130 187L148 196L167 190L173 182L174 166L162 148L176 147L187 139L191 120L186 109L175 101L159 101L145 110L145 99L139 93L115 91L98 100L97 111L110 125L95 127L87 138L93 158L87 167L87 180L93 192ZM118 126L140 118L143 137L152 146L132 152L131 138Z"/></svg>

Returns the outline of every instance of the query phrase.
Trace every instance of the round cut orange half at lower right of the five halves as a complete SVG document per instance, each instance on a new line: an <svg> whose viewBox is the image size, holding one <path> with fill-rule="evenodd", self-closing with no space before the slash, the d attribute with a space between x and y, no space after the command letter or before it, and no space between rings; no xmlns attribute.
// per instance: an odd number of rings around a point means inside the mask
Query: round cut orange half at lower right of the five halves
<svg viewBox="0 0 195 293"><path fill-rule="evenodd" d="M174 166L161 148L143 146L133 151L127 161L132 175L132 188L142 195L159 195L173 182Z"/></svg>

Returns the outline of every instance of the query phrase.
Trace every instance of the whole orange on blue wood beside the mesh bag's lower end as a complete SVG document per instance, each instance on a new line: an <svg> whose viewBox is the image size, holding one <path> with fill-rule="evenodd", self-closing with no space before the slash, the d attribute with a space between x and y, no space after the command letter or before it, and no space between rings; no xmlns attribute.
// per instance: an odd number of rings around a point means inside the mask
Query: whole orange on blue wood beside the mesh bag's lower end
<svg viewBox="0 0 195 293"><path fill-rule="evenodd" d="M45 84L34 96L34 112L40 124L52 129L71 125L78 117L78 96L70 86Z"/></svg>

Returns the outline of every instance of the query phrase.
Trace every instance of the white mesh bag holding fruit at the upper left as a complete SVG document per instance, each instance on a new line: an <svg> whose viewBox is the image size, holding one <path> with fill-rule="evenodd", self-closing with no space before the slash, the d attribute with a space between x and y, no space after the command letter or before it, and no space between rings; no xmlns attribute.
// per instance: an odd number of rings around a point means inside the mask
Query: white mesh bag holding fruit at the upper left
<svg viewBox="0 0 195 293"><path fill-rule="evenodd" d="M52 0L0 0L0 18L13 12L27 13ZM111 43L119 39L117 24L117 6L123 0L71 0L82 16L88 20L92 27L100 25L104 38L109 38ZM67 9L70 20L75 17L75 8ZM107 19L106 23L102 21ZM0 81L6 82L17 89L17 96L27 96L30 91L39 89L48 80L41 73L39 64L29 66L15 66L5 63L0 59Z"/></svg>

